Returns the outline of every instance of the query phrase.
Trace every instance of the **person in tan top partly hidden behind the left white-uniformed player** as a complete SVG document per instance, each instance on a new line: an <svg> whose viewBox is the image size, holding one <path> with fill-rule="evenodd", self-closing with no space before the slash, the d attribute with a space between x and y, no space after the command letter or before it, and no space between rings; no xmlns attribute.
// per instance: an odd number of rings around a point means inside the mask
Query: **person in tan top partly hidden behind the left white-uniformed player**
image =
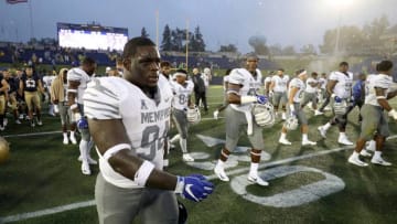
<svg viewBox="0 0 397 224"><path fill-rule="evenodd" d="M71 107L67 103L67 68L61 68L58 75L54 78L51 87L51 102L58 108L62 132L63 132L63 143L68 145L71 139L73 145L76 145L75 131L76 131L76 120L72 116ZM71 137L67 138L67 124L71 125Z"/></svg>

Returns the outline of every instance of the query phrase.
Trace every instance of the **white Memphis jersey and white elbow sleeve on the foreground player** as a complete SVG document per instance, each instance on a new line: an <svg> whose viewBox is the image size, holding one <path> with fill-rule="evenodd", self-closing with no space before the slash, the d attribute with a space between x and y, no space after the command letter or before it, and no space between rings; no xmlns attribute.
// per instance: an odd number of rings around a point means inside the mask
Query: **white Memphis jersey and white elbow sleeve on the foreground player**
<svg viewBox="0 0 397 224"><path fill-rule="evenodd" d="M85 114L90 119L121 119L132 150L162 169L164 139L169 130L172 92L159 76L154 98L120 77L93 78L84 95ZM106 128L106 127L104 127ZM120 188L141 188L116 172L99 156L99 169L108 182Z"/></svg>

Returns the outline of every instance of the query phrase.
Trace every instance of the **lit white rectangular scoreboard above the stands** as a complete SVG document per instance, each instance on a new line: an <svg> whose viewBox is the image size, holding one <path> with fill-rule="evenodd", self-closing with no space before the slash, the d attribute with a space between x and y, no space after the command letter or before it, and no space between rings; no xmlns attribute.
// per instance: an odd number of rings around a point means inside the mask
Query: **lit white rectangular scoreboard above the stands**
<svg viewBox="0 0 397 224"><path fill-rule="evenodd" d="M128 29L98 24L56 23L62 47L122 51L128 41Z"/></svg>

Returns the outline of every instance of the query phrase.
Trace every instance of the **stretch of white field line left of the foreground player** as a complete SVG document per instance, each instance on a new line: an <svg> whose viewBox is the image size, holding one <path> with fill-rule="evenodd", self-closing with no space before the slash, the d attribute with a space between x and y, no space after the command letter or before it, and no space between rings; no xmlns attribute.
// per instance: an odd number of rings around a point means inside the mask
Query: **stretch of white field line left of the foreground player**
<svg viewBox="0 0 397 224"><path fill-rule="evenodd" d="M55 213L60 213L60 212L65 212L65 211L69 211L69 210L76 210L76 209L93 206L93 205L95 205L94 200L86 201L86 202L73 203L73 204L66 204L66 205L56 206L56 207L52 207L52 209L47 209L47 210L41 210L41 211L36 211L36 212L28 212L28 213L22 213L22 214L18 214L18 215L10 215L10 216L0 218L0 223L11 223L11 222L17 222L17 221L28 220L31 217L39 217L39 216L43 216L43 215L50 215L50 214L55 214Z"/></svg>

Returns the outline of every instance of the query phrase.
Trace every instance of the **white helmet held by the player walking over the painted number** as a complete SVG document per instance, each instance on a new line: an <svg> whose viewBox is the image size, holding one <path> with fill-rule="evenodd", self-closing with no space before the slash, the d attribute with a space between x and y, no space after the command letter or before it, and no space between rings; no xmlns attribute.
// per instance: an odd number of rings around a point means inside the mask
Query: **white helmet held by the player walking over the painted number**
<svg viewBox="0 0 397 224"><path fill-rule="evenodd" d="M253 106L255 122L260 127L272 127L276 120L273 106L270 103L255 104Z"/></svg>

